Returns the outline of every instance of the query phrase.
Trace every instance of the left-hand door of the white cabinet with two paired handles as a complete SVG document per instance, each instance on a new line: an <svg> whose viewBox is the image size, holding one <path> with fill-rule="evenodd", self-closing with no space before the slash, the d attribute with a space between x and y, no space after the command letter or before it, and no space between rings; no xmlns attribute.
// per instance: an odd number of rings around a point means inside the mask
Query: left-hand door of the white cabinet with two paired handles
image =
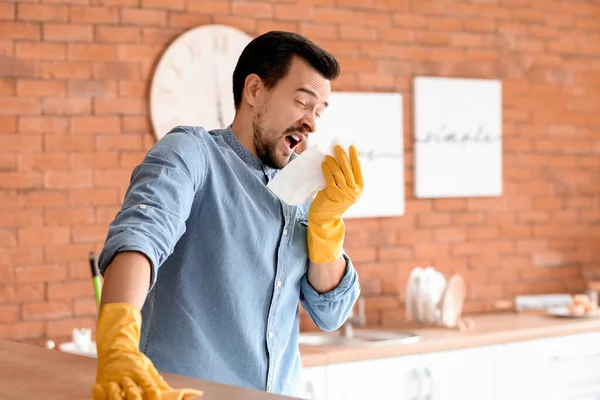
<svg viewBox="0 0 600 400"><path fill-rule="evenodd" d="M420 400L417 356L327 366L327 400Z"/></svg>

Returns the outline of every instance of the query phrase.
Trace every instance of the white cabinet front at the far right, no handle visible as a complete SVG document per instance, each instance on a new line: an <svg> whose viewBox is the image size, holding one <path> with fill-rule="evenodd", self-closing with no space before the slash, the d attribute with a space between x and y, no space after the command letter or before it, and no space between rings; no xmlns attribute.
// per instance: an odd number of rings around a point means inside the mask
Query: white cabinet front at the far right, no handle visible
<svg viewBox="0 0 600 400"><path fill-rule="evenodd" d="M506 400L600 399L600 333L506 345Z"/></svg>

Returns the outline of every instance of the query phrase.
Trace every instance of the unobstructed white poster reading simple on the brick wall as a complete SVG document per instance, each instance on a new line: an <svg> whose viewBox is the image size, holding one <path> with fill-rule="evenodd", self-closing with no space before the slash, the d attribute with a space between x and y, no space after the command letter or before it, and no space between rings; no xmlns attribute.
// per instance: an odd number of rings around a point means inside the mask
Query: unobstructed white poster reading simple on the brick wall
<svg viewBox="0 0 600 400"><path fill-rule="evenodd" d="M501 82L415 78L414 147L416 197L500 196Z"/></svg>

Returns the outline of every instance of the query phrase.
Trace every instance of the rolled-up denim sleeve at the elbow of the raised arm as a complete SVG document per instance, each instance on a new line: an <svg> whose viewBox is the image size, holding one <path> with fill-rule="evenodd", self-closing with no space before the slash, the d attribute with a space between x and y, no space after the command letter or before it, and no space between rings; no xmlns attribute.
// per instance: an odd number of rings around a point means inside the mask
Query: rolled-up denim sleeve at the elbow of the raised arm
<svg viewBox="0 0 600 400"><path fill-rule="evenodd" d="M302 278L300 303L314 323L324 331L339 329L360 295L358 273L346 253L346 272L334 289L318 293L308 282L308 274Z"/></svg>

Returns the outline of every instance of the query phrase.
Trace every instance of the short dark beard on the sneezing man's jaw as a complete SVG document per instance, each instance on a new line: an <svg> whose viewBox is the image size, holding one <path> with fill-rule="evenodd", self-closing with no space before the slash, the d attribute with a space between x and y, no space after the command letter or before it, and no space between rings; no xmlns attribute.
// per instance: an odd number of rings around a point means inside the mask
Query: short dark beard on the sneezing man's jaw
<svg viewBox="0 0 600 400"><path fill-rule="evenodd" d="M266 166L274 169L282 169L290 161L291 156L287 156L281 152L279 147L281 146L281 140L285 137L285 134L279 135L272 129L265 127L264 115L266 107L260 110L260 112L254 117L252 121L252 128L254 131L254 148L256 149L256 155ZM297 129L289 128L286 132L293 132Z"/></svg>

